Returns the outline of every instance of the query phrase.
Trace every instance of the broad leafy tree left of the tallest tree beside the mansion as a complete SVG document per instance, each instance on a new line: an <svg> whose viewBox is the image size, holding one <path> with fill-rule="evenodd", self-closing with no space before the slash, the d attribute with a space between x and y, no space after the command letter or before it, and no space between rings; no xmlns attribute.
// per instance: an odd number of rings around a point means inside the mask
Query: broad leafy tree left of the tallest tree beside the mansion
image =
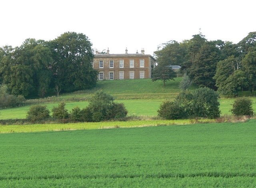
<svg viewBox="0 0 256 188"><path fill-rule="evenodd" d="M7 56L3 82L12 94L44 96L48 90L51 74L48 67L52 61L50 50L42 40L26 39L20 47ZM9 67L9 68L8 68ZM46 78L47 76L47 78ZM43 79L44 78L44 79ZM44 87L44 91L40 88Z"/></svg>

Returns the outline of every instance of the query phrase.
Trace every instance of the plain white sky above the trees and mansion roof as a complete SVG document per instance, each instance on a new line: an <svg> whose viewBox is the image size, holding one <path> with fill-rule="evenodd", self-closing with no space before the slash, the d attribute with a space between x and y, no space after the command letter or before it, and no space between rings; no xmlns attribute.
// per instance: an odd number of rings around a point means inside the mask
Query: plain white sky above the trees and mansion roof
<svg viewBox="0 0 256 188"><path fill-rule="evenodd" d="M84 33L92 48L153 55L158 45L198 34L238 43L256 31L255 0L2 0L0 47L27 38Z"/></svg>

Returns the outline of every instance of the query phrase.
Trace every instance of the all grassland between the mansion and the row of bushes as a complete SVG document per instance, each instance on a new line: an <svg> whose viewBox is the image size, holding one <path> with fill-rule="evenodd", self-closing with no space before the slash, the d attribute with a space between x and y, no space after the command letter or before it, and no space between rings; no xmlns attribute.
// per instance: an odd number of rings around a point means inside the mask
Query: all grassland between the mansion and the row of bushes
<svg viewBox="0 0 256 188"><path fill-rule="evenodd" d="M166 86L163 86L163 82L160 80L152 82L151 79L103 80L97 82L96 87L92 90L61 94L60 101L66 102L68 111L71 111L76 106L85 108L88 105L88 98L91 94L97 90L103 90L114 96L116 102L124 103L128 110L128 116L157 116L159 105L165 100L174 100L178 95L181 80L181 77L175 78L175 80L166 82ZM194 86L191 89L194 89ZM240 92L239 95L242 96L243 94L249 95L248 92ZM253 109L256 111L256 98L251 98L254 101ZM230 109L234 100L234 98L221 98L219 100L221 115L231 114ZM28 100L28 104L31 102L47 105L49 110L60 103L55 96ZM20 108L2 109L0 110L0 119L26 118L28 109L29 105Z"/></svg>

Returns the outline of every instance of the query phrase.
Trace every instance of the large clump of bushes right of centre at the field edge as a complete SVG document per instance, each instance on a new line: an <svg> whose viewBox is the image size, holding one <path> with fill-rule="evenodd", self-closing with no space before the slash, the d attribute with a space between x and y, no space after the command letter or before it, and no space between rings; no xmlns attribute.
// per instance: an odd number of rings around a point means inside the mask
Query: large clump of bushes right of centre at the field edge
<svg viewBox="0 0 256 188"><path fill-rule="evenodd" d="M217 118L220 117L218 94L210 88L198 88L180 92L175 102L160 105L158 116L166 119Z"/></svg>

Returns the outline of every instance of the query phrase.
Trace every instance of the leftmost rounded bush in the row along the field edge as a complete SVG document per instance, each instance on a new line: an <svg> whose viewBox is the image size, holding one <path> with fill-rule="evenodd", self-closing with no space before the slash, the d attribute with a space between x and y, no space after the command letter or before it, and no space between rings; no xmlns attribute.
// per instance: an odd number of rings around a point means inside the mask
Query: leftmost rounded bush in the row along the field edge
<svg viewBox="0 0 256 188"><path fill-rule="evenodd" d="M50 110L40 104L33 105L27 112L26 118L30 121L40 121L50 118Z"/></svg>

